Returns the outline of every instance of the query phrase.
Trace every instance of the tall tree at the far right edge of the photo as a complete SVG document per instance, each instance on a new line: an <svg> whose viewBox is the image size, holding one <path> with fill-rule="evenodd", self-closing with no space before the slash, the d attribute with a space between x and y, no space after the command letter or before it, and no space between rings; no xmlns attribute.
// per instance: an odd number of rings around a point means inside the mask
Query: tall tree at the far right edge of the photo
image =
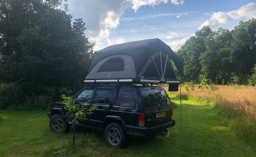
<svg viewBox="0 0 256 157"><path fill-rule="evenodd" d="M241 83L247 82L252 74L251 69L256 62L256 19L240 22L232 31L232 50L230 62L233 75L238 76Z"/></svg>

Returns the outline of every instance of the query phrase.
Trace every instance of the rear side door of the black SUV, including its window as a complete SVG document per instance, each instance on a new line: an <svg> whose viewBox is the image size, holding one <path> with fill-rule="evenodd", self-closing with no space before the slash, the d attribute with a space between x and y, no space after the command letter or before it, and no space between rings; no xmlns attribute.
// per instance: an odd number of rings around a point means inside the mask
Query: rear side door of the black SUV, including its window
<svg viewBox="0 0 256 157"><path fill-rule="evenodd" d="M92 106L97 106L93 114L89 115L89 125L93 127L101 127L103 119L109 112L111 103L112 89L96 89Z"/></svg>

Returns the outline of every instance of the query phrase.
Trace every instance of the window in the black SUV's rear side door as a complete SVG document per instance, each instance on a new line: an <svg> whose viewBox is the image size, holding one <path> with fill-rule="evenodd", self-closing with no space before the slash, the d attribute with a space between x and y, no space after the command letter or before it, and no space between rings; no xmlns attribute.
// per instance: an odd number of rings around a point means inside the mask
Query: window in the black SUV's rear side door
<svg viewBox="0 0 256 157"><path fill-rule="evenodd" d="M111 99L111 90L96 90L94 103L109 104Z"/></svg>

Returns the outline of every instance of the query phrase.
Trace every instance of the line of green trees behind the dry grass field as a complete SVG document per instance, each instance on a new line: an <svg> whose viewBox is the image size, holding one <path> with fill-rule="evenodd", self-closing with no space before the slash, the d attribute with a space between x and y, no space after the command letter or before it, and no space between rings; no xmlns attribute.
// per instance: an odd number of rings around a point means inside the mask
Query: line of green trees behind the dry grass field
<svg viewBox="0 0 256 157"><path fill-rule="evenodd" d="M205 26L176 52L184 58L183 81L256 85L256 19L234 30Z"/></svg>

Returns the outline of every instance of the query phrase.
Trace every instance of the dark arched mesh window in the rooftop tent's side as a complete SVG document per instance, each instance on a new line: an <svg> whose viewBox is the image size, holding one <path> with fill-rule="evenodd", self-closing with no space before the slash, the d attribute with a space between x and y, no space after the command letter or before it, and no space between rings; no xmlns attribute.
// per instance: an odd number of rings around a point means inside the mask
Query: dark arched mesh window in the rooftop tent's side
<svg viewBox="0 0 256 157"><path fill-rule="evenodd" d="M123 71L124 62L121 58L112 58L106 61L98 72Z"/></svg>

